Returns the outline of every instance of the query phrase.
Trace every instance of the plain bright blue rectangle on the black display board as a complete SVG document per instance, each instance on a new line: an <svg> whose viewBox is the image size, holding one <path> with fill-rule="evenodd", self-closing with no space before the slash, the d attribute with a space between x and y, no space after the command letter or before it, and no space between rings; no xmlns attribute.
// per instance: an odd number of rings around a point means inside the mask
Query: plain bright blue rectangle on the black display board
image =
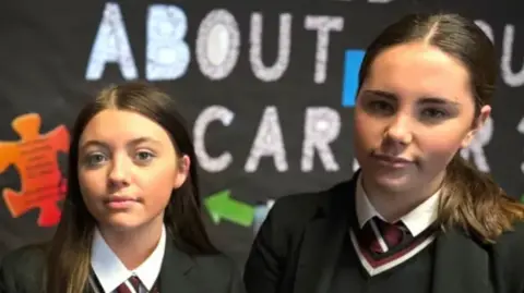
<svg viewBox="0 0 524 293"><path fill-rule="evenodd" d="M344 76L342 88L342 106L354 107L358 86L358 72L362 63L364 50L346 50L344 57Z"/></svg>

